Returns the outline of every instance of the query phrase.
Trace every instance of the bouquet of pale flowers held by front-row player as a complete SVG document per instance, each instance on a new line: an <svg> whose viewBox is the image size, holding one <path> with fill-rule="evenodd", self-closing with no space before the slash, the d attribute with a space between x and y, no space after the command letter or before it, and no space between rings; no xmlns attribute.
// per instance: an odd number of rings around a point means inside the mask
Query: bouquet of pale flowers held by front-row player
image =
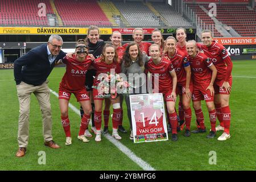
<svg viewBox="0 0 256 182"><path fill-rule="evenodd" d="M98 90L98 97L101 98L116 98L118 94L128 92L129 84L117 73L101 73L96 80L97 86L92 88Z"/></svg>

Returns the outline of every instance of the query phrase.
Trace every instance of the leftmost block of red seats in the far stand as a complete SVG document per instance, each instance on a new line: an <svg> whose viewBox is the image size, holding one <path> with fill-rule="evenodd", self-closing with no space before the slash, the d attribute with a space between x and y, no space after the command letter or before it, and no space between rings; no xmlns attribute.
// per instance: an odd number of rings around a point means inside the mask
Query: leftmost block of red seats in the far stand
<svg viewBox="0 0 256 182"><path fill-rule="evenodd" d="M0 24L4 26L47 26L46 16L39 17L40 0L0 0ZM53 13L49 1L46 4L46 14Z"/></svg>

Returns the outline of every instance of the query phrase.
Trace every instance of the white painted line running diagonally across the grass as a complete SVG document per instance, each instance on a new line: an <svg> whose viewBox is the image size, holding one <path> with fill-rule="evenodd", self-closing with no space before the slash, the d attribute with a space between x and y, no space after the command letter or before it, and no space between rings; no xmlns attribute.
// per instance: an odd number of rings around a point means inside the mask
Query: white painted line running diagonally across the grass
<svg viewBox="0 0 256 182"><path fill-rule="evenodd" d="M59 97L59 94L57 94L56 92L54 92L52 89L49 89L51 91L51 93L53 95L55 95L56 97ZM75 106L73 106L72 104L68 104L68 106L78 115L80 115L80 110L77 109ZM116 146L121 152L123 152L123 154L127 155L131 160L133 160L133 162L135 162L136 164L139 165L139 167L141 167L144 171L156 171L155 168L151 167L150 164L144 162L144 160L142 160L141 158L139 158L137 155L134 154L133 151L131 151L129 148L127 148L125 145L123 145L121 142L119 142L118 140L114 139L113 137L111 137L109 134L104 135L104 137L106 139L109 140L109 142L113 143L114 146Z"/></svg>

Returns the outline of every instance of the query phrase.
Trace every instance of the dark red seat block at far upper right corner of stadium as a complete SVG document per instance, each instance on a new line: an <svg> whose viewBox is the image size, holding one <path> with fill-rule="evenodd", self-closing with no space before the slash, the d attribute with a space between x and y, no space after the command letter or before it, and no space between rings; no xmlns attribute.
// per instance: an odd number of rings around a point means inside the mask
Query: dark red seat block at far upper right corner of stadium
<svg viewBox="0 0 256 182"><path fill-rule="evenodd" d="M208 6L204 7L209 10ZM256 11L246 5L217 5L216 18L241 36L256 36Z"/></svg>

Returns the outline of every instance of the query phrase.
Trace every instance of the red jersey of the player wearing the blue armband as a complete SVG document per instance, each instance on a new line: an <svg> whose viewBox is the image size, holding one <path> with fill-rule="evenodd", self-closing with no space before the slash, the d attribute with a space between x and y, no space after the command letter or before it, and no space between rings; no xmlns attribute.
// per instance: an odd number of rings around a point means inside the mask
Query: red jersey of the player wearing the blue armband
<svg viewBox="0 0 256 182"><path fill-rule="evenodd" d="M189 66L187 56L184 55L183 52L176 50L173 57L169 57L168 54L164 55L163 57L170 60L172 65L174 65L174 69L177 75L177 84L185 84L187 73L184 67Z"/></svg>

